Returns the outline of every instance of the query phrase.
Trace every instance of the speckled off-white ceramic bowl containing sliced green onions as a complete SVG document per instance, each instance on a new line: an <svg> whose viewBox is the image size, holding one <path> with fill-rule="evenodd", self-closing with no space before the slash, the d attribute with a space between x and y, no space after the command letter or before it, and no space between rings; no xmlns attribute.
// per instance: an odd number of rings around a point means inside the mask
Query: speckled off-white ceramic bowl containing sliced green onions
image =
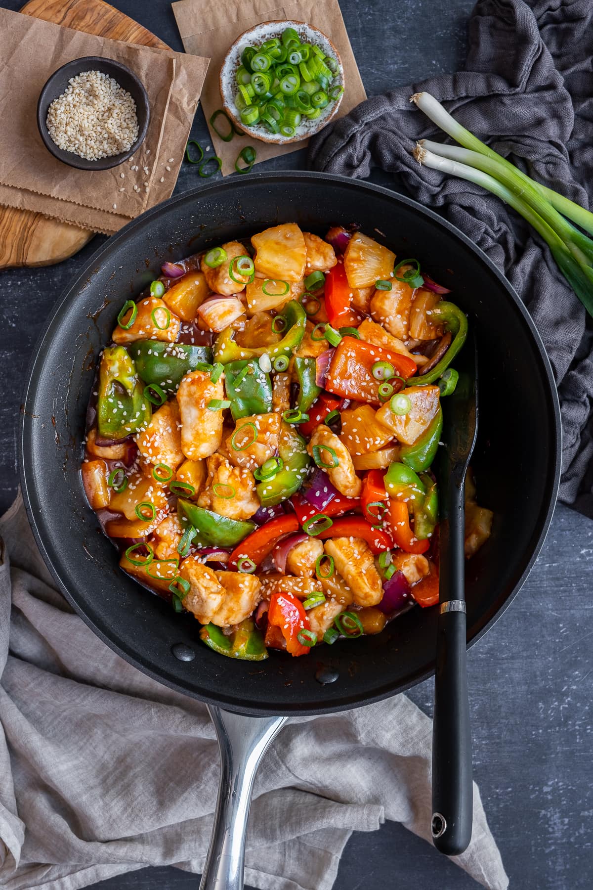
<svg viewBox="0 0 593 890"><path fill-rule="evenodd" d="M309 136L313 136L322 130L337 114L344 95L342 93L338 99L326 105L325 109L321 110L320 116L316 117L315 120L303 117L293 136L268 133L265 127L259 124L255 126L244 125L241 121L241 112L235 105L235 76L236 70L241 64L241 53L243 53L245 46L260 46L265 40L269 40L270 37L281 36L284 28L294 28L301 37L301 42L317 44L324 51L325 55L332 55L339 65L338 73L335 75L333 82L344 86L344 69L341 64L340 53L338 53L330 38L325 36L323 31L306 24L304 21L264 21L260 25L255 25L254 28L249 28L244 34L237 37L235 43L228 50L220 69L220 96L222 97L223 107L237 128L243 130L245 134L252 136L252 139L259 139L260 142L275 142L278 145L288 144L289 142L301 142L303 139L308 139Z"/></svg>

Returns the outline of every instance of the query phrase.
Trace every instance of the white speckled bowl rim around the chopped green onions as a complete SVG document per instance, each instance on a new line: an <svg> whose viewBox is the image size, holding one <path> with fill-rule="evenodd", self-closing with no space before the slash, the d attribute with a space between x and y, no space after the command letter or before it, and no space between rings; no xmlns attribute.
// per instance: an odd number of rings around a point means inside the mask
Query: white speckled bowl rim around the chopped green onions
<svg viewBox="0 0 593 890"><path fill-rule="evenodd" d="M265 44L266 41L273 41L274 39L280 41L287 28L296 31L301 40L301 44L309 44L309 46L315 48L317 59L322 60L322 57L325 56L326 59L333 61L333 68L335 70L331 72L331 88L335 91L336 98L330 99L323 108L320 108L320 113L317 117L309 118L306 114L302 114L299 124L293 127L294 132L292 134L284 135L282 132L276 133L270 131L268 126L263 124L261 120L256 124L250 125L245 121L244 117L242 117L241 112L244 109L245 100L244 95L242 95L238 89L237 72L241 72L242 68L244 69L242 56L245 49L248 47L256 47L260 49L262 44ZM306 68L307 64L308 63L306 62ZM300 66L297 66L297 68L300 68ZM302 85L305 85L305 82L306 79L303 78ZM310 83L310 80L307 80L307 83ZM341 64L340 54L329 37L325 36L323 31L302 21L267 21L262 22L260 25L256 25L253 28L249 28L244 34L237 37L235 43L232 44L225 57L225 61L222 64L222 68L220 69L220 95L222 97L224 110L228 114L228 117L231 118L238 129L242 130L253 139L258 139L262 142L274 142L279 145L284 145L290 142L301 142L301 140L307 139L309 136L318 133L335 116L340 108L343 88L344 71ZM277 92L279 93L279 91ZM252 99L253 98L257 99L257 94L256 97L252 97ZM272 93L269 99L271 104L274 104L274 100L276 99L275 94ZM291 109L292 108L293 106L291 106Z"/></svg>

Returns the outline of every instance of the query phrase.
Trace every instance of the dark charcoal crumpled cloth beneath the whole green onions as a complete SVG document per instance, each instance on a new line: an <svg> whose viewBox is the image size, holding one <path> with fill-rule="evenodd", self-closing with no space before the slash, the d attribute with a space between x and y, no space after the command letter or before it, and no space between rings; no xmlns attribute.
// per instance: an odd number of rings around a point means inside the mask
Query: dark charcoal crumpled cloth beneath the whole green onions
<svg viewBox="0 0 593 890"><path fill-rule="evenodd" d="M593 3L479 0L465 69L397 87L319 134L316 170L368 176L380 166L464 231L525 301L554 368L564 435L560 499L593 517L593 326L540 237L499 198L420 166L419 139L452 142L415 105L427 91L539 182L589 208L593 188ZM517 384L523 384L517 381Z"/></svg>

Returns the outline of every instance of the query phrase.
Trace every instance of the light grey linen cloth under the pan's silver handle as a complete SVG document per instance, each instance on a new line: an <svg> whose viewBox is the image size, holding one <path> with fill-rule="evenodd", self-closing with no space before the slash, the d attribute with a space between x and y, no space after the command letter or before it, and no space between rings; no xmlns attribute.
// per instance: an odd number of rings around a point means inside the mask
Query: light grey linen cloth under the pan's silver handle
<svg viewBox="0 0 593 890"><path fill-rule="evenodd" d="M200 872L219 775L206 708L92 634L53 587L20 497L0 535L0 886ZM255 784L247 883L330 890L352 830L386 819L428 840L430 746L429 718L404 695L292 719ZM454 862L491 890L509 884L476 785L471 844Z"/></svg>

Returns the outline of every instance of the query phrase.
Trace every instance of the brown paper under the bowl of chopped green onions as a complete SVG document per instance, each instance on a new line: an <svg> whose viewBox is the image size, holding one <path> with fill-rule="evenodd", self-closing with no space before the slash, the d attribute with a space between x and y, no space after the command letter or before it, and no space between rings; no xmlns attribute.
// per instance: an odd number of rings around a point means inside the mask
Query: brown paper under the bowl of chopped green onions
<svg viewBox="0 0 593 890"><path fill-rule="evenodd" d="M296 3L283 5L279 5L278 0L179 0L172 4L172 11L186 53L210 56L210 67L202 91L206 121L222 105L220 68L230 45L253 25L275 19L292 19L314 25L330 38L340 53L345 88L336 117L348 114L366 99L338 0L297 0ZM254 141L252 136L235 136L231 142L223 142L212 129L210 134L214 150L222 159L223 175L235 172L235 161L244 145L254 145L257 149L256 163L259 163L302 149L309 142L303 140L290 145L274 145Z"/></svg>

